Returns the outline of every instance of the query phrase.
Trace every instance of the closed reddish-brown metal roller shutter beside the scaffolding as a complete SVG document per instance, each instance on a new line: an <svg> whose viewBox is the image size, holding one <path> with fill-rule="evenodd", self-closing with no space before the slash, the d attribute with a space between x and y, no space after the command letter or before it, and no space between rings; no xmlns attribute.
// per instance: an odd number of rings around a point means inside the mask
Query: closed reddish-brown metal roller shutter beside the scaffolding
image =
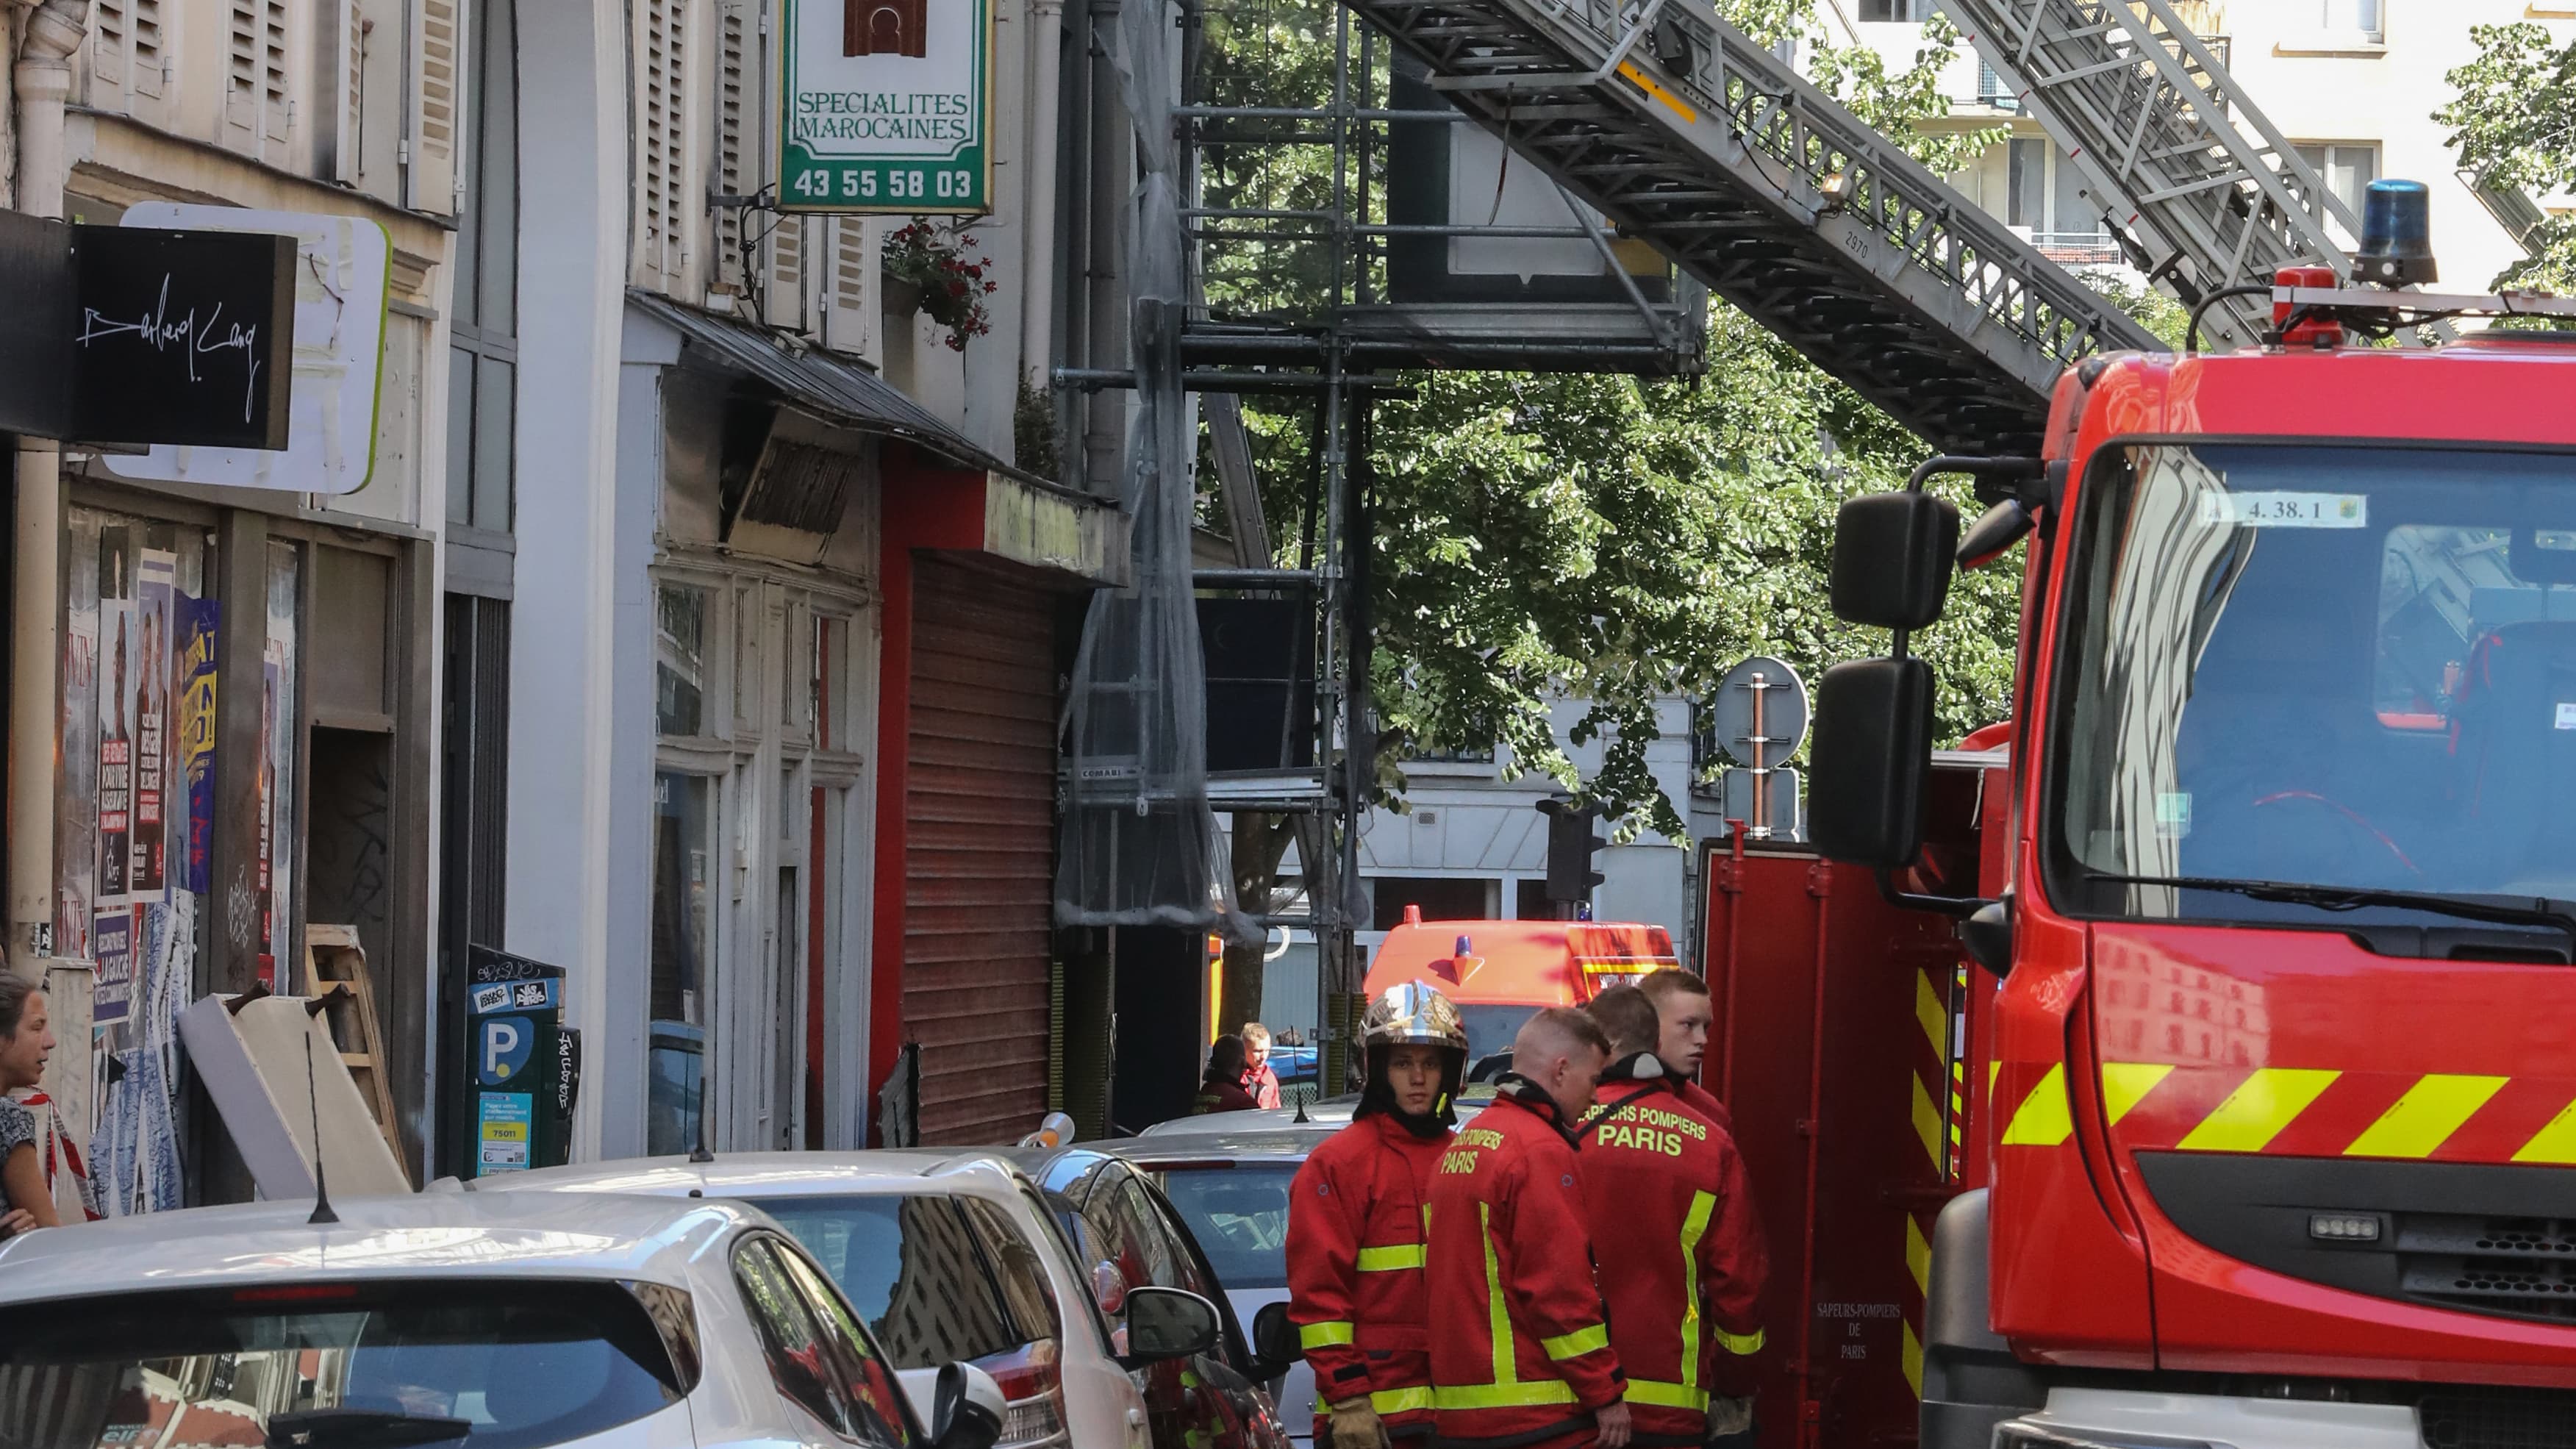
<svg viewBox="0 0 2576 1449"><path fill-rule="evenodd" d="M920 554L904 786L904 1031L922 1142L1046 1114L1056 874L1056 598Z"/></svg>

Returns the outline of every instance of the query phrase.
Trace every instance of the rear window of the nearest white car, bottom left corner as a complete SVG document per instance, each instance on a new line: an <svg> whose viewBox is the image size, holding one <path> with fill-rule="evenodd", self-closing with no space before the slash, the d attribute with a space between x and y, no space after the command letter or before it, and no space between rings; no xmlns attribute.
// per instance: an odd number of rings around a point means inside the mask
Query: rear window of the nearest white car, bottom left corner
<svg viewBox="0 0 2576 1449"><path fill-rule="evenodd" d="M538 1449L680 1403L693 1336L685 1292L567 1279L21 1302L0 1315L0 1444Z"/></svg>

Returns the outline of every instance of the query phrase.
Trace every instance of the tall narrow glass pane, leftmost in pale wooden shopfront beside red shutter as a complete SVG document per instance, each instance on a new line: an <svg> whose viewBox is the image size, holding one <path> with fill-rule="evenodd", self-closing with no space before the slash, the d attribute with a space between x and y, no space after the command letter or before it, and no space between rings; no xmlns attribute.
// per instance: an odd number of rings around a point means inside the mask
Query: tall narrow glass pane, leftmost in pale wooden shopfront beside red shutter
<svg viewBox="0 0 2576 1449"><path fill-rule="evenodd" d="M654 776L652 1042L644 1150L688 1152L706 1111L706 967L714 923L716 781Z"/></svg>

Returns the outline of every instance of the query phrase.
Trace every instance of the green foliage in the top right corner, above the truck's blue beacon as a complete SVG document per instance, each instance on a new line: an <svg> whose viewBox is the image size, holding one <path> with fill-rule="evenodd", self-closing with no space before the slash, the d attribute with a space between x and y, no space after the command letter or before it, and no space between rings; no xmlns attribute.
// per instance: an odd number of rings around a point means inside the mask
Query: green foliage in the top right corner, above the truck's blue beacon
<svg viewBox="0 0 2576 1449"><path fill-rule="evenodd" d="M2576 191L2576 41L2532 21L2468 34L2478 57L2445 77L2455 95L2432 116L2452 129L2460 168L2527 196ZM2491 286L2576 291L2576 217L2543 222L2532 250Z"/></svg>

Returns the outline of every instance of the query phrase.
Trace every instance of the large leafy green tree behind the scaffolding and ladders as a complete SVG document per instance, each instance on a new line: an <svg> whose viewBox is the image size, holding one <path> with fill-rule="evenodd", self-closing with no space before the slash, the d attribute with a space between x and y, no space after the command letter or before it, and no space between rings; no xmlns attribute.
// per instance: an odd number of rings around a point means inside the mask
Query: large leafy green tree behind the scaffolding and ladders
<svg viewBox="0 0 2576 1449"><path fill-rule="evenodd" d="M1958 170L1991 131L1924 129L1945 111L1937 72L1958 44L1927 26L1924 52L1891 70L1875 52L1824 44L1811 0L1723 3L1770 44L1801 39L1806 72L1935 170ZM1332 93L1329 0L1234 0L1206 10L1200 103L1314 106ZM1360 95L1383 98L1386 52ZM1355 67L1360 70L1360 67ZM1383 103L1383 101L1381 101ZM1224 126L1224 129L1218 129ZM1278 121L1211 121L1200 183L1208 206L1319 211L1332 150ZM1345 155L1383 196L1370 157ZM1381 206L1370 206L1383 217ZM1206 240L1211 315L1316 315L1332 289L1321 240L1270 224ZM1345 273L1345 299L1373 273ZM1378 719L1404 748L1502 743L1623 820L1685 835L1680 802L1646 771L1654 706L1703 699L1747 655L1777 655L1816 678L1880 652L1886 637L1826 608L1834 511L1899 487L1927 456L1919 438L1734 309L1713 304L1708 374L1692 382L1569 374L1414 374L1414 394L1376 402L1373 608ZM1280 562L1311 547L1314 407L1244 397ZM1955 495L1973 516L1976 503ZM1940 678L1950 737L2009 712L2020 554L1953 585L1940 627L1914 639ZM1574 740L1605 743L1579 779L1551 732L1551 701L1584 701ZM1401 794L1401 766L1381 771Z"/></svg>

